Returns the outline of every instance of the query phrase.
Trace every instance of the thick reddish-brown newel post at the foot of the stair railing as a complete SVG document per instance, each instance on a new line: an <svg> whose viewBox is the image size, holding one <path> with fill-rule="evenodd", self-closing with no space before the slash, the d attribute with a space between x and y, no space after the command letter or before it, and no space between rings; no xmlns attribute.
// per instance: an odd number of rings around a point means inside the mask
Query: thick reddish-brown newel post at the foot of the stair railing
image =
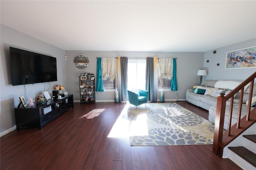
<svg viewBox="0 0 256 170"><path fill-rule="evenodd" d="M213 137L213 149L212 149L212 152L214 152L216 155L222 155L222 149L220 145L222 144L222 137L223 137L225 109L226 109L226 100L224 97L224 93L220 93L220 96L218 96L218 100L217 100L214 137Z"/></svg>

